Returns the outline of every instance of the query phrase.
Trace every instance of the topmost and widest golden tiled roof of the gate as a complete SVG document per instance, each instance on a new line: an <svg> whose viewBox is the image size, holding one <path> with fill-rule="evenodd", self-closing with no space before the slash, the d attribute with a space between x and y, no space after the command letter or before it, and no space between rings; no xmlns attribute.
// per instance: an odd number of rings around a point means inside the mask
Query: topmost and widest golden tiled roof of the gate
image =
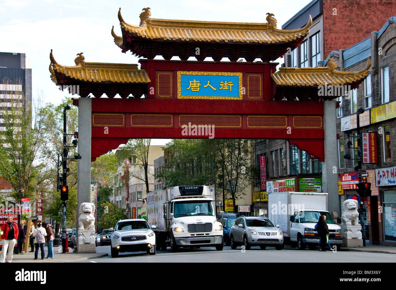
<svg viewBox="0 0 396 290"><path fill-rule="evenodd" d="M276 28L276 19L272 13L267 13L267 23L237 23L237 22L212 22L151 19L150 8L144 8L141 13L140 25L130 25L118 11L121 29L135 34L141 38L152 40L182 40L203 42L256 42L256 43L284 43L297 40L309 33L312 18L305 27L295 30L282 30ZM122 46L122 37L117 36L112 30L114 42Z"/></svg>

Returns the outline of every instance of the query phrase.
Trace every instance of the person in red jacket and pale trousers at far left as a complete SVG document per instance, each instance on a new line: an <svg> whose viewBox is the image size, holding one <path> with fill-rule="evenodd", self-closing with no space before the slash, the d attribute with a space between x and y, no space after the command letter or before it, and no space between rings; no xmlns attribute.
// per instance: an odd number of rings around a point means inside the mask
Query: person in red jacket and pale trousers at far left
<svg viewBox="0 0 396 290"><path fill-rule="evenodd" d="M11 263L14 246L18 239L19 228L17 223L13 221L12 216L8 216L7 223L1 226L1 230L3 231L3 235L1 236L3 240L3 247L1 250L0 262L4 263L7 253L6 262Z"/></svg>

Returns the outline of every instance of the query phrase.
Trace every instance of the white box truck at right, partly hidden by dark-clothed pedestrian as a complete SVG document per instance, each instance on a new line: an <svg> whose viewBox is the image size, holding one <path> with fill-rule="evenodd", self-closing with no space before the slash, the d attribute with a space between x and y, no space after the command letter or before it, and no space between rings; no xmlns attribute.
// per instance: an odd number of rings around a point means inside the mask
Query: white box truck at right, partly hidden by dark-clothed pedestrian
<svg viewBox="0 0 396 290"><path fill-rule="evenodd" d="M329 227L330 245L337 248L343 243L341 227L327 211L327 193L273 192L268 194L268 218L278 224L282 230L284 244L297 246L304 250L306 246L313 250L318 246L319 235L315 230L319 216L326 216Z"/></svg>

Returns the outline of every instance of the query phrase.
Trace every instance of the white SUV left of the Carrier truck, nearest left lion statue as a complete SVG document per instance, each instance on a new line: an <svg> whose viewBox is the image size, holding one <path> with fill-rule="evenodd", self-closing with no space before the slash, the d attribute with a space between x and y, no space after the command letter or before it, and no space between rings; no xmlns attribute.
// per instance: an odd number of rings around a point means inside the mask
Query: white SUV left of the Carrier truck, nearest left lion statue
<svg viewBox="0 0 396 290"><path fill-rule="evenodd" d="M142 218L118 221L111 235L111 257L118 257L120 252L136 251L155 255L154 228L156 226L150 227Z"/></svg>

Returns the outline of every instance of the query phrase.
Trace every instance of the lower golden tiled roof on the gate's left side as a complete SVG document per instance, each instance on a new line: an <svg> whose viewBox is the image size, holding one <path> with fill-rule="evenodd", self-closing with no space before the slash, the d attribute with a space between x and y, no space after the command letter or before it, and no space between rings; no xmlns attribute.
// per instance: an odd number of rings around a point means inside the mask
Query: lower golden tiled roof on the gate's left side
<svg viewBox="0 0 396 290"><path fill-rule="evenodd" d="M57 83L55 72L61 73L69 78L83 82L110 82L110 83L149 83L150 78L146 70L138 70L137 64L123 63L86 63L82 53L77 54L74 60L75 66L65 66L57 63L53 57L52 49L49 54L51 64L51 80Z"/></svg>

